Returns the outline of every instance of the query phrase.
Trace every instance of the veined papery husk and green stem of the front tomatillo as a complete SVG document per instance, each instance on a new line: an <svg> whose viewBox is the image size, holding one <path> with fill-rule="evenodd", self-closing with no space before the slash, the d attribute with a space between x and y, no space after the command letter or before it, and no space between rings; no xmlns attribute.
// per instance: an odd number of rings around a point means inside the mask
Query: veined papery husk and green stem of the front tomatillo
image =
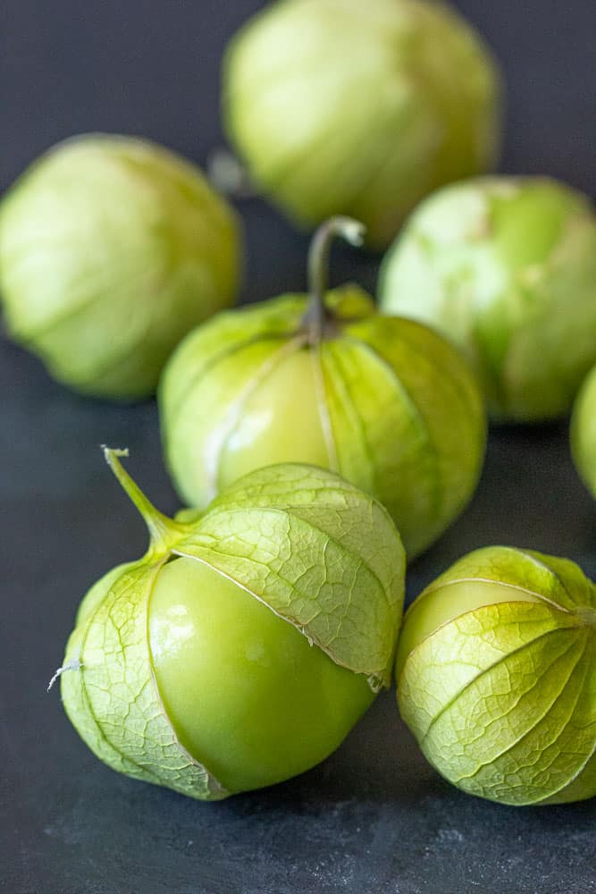
<svg viewBox="0 0 596 894"><path fill-rule="evenodd" d="M376 691L390 684L404 596L404 551L382 506L340 477L281 465L239 480L200 519L157 513L108 451L152 534L147 555L113 569L81 605L63 704L114 770L190 797L230 792L180 744L151 665L147 607L171 556L205 562L297 627Z"/></svg>

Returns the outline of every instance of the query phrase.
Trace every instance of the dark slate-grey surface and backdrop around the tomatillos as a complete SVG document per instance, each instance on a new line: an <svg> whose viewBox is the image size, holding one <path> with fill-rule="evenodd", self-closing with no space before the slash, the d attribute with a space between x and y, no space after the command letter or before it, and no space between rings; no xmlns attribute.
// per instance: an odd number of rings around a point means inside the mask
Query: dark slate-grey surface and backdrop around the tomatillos
<svg viewBox="0 0 596 894"><path fill-rule="evenodd" d="M363 0L365 2L365 0ZM250 0L3 0L0 187L58 139L145 135L199 163L222 141L219 61L259 6ZM465 0L508 80L503 170L550 173L596 192L592 0ZM304 286L306 236L258 201L244 299ZM337 252L334 277L374 288L377 261ZM0 341L0 890L11 894L596 890L592 802L521 809L483 803L439 779L382 696L340 750L304 776L201 805L106 769L45 686L80 596L138 555L143 527L99 443L130 447L129 468L163 510L155 404L84 401ZM565 425L491 435L483 481L462 519L408 578L412 598L474 546L564 554L596 574L596 509Z"/></svg>

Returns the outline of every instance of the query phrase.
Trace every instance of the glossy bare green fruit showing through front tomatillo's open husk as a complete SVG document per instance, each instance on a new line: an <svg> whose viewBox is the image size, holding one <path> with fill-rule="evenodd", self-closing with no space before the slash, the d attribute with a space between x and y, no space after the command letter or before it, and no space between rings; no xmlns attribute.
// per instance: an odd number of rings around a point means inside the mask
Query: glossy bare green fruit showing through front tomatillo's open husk
<svg viewBox="0 0 596 894"><path fill-rule="evenodd" d="M231 792L320 763L374 700L362 675L192 559L160 571L149 641L180 741Z"/></svg>

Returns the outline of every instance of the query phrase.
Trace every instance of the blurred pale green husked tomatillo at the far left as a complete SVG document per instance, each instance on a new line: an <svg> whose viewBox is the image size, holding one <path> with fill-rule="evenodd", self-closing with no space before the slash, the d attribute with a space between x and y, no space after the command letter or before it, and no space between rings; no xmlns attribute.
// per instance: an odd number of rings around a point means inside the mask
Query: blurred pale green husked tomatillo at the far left
<svg viewBox="0 0 596 894"><path fill-rule="evenodd" d="M131 137L69 139L0 204L6 325L59 382L146 397L182 336L235 299L240 243L185 159Z"/></svg>

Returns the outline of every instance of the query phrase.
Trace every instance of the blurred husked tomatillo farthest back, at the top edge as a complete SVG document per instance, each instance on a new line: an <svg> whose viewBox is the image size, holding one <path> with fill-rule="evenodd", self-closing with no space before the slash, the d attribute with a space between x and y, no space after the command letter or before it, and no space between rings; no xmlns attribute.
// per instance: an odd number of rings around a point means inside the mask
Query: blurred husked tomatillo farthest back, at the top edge
<svg viewBox="0 0 596 894"><path fill-rule="evenodd" d="M479 35L420 0L273 4L223 71L227 131L265 195L308 227L356 217L377 249L429 192L493 168L499 99Z"/></svg>

